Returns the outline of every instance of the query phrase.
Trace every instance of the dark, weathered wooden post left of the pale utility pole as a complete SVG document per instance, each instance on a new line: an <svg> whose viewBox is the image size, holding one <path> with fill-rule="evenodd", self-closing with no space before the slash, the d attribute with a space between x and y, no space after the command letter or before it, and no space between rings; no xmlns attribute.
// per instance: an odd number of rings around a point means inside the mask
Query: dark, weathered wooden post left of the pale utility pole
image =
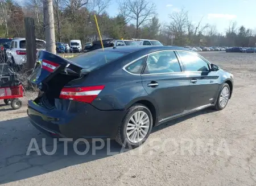
<svg viewBox="0 0 256 186"><path fill-rule="evenodd" d="M36 61L36 40L34 18L24 18L26 32L27 68L34 68Z"/></svg>

